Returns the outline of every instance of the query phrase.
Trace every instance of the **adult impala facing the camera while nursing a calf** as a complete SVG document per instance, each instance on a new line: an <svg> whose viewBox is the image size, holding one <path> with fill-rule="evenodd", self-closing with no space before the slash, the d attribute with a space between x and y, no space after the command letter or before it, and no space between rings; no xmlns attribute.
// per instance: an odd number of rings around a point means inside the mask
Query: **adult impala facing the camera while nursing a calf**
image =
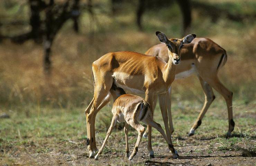
<svg viewBox="0 0 256 166"><path fill-rule="evenodd" d="M166 63L162 58L135 52L116 52L103 55L92 64L94 82L94 97L85 110L87 124L87 145L93 158L97 151L95 142L95 117L98 111L110 99L110 88L113 84L122 89L129 89L135 93L145 93L145 100L153 105L154 96L158 95L159 105L165 125L166 135L171 141L168 129L166 110L166 92L175 78L175 65L180 63L180 49L183 44L192 42L196 35L188 35L183 39L168 39L165 34L156 32L158 39L168 46L168 56L171 61ZM152 110L152 107L150 107ZM151 145L151 127L148 127L149 156L154 156ZM172 144L171 144L172 146ZM176 158L174 148L173 157Z"/></svg>

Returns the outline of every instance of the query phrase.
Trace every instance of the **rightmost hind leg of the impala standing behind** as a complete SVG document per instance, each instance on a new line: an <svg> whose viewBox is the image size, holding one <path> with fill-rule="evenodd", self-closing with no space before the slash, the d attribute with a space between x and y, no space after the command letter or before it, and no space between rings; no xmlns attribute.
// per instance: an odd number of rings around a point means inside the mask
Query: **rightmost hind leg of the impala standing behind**
<svg viewBox="0 0 256 166"><path fill-rule="evenodd" d="M231 132L234 130L235 122L233 120L233 109L232 109L232 97L233 93L229 91L218 79L216 76L209 84L219 92L223 98L226 100L227 108L228 108L228 132L227 136L231 136Z"/></svg>

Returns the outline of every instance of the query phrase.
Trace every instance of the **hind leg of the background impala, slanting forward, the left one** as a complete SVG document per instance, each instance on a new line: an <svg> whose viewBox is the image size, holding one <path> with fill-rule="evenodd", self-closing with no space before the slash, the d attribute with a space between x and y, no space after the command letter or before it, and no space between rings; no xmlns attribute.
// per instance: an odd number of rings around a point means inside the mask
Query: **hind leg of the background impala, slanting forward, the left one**
<svg viewBox="0 0 256 166"><path fill-rule="evenodd" d="M202 123L202 119L204 117L204 114L207 112L208 108L210 107L212 101L215 99L214 93L212 91L212 87L205 82L201 76L198 76L198 79L201 83L201 86L203 88L203 92L204 92L204 105L203 108L198 116L198 118L196 119L194 125L192 126L192 128L189 131L189 136L193 136L195 133L195 130L201 125Z"/></svg>

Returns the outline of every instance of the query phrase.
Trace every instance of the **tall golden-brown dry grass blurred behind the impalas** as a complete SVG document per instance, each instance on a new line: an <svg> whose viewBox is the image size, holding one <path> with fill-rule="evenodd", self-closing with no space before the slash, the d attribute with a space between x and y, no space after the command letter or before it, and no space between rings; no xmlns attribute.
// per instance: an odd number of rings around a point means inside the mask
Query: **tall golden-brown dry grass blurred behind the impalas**
<svg viewBox="0 0 256 166"><path fill-rule="evenodd" d="M239 31L236 26L226 29L227 24L220 20L219 25L214 25L216 27L213 32L220 29L223 33L205 37L213 39L228 52L228 62L219 73L223 84L235 92L235 99L250 102L255 99L256 92L256 50L252 42L256 26L243 25L244 29ZM199 30L194 31L202 37ZM150 46L159 43L153 32L143 33L133 29L99 33L92 37L90 31L81 34L74 34L70 30L68 32L64 29L55 39L50 77L43 72L43 49L40 45L35 45L32 41L22 45L12 44L8 40L1 43L1 107L85 107L93 95L91 64L94 60L111 51L132 50L143 53ZM176 81L173 86L178 98L202 96L196 77Z"/></svg>

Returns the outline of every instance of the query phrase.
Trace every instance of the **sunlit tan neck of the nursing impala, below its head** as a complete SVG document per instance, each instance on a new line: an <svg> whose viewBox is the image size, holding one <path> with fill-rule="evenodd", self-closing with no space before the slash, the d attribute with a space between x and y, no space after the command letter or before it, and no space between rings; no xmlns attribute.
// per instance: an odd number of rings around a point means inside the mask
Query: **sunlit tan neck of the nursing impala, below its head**
<svg viewBox="0 0 256 166"><path fill-rule="evenodd" d="M164 71L163 71L163 79L166 83L166 86L171 86L172 82L175 79L175 70L176 70L176 65L172 63L172 57L169 55L169 60L168 63L164 66Z"/></svg>

